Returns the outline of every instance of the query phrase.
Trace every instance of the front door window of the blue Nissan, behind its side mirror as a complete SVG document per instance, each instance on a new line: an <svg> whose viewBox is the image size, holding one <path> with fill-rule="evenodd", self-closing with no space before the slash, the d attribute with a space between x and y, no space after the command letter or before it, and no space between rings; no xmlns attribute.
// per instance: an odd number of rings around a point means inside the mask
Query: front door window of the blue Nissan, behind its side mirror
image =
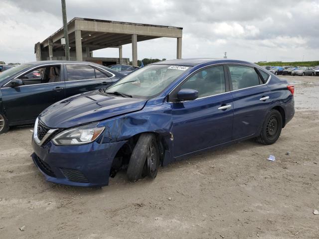
<svg viewBox="0 0 319 239"><path fill-rule="evenodd" d="M223 66L206 68L190 77L180 89L198 91L198 98L226 92Z"/></svg>

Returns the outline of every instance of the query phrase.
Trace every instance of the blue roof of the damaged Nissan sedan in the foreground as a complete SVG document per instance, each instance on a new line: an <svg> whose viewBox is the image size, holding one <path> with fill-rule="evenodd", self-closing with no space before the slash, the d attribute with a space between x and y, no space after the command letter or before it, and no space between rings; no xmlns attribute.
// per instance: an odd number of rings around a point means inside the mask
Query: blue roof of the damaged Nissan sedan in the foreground
<svg viewBox="0 0 319 239"><path fill-rule="evenodd" d="M251 62L232 60L232 59L218 59L218 58L189 58L189 59L175 59L167 61L159 61L152 63L152 65L180 65L180 66L196 66L204 63L223 64L223 63L242 63L257 66Z"/></svg>

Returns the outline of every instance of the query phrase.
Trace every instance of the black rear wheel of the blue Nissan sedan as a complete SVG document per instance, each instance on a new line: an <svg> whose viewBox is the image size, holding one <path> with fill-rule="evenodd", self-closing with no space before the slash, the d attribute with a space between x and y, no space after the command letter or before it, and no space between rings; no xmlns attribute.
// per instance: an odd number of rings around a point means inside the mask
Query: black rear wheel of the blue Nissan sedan
<svg viewBox="0 0 319 239"><path fill-rule="evenodd" d="M283 118L279 111L271 110L263 124L263 128L256 141L261 144L273 144L280 136Z"/></svg>

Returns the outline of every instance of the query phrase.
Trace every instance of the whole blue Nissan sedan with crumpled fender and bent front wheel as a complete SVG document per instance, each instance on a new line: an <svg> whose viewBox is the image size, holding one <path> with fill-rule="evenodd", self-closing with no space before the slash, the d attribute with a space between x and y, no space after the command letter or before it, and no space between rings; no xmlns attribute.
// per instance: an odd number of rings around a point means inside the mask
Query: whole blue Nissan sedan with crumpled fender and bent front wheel
<svg viewBox="0 0 319 239"><path fill-rule="evenodd" d="M238 60L154 63L36 119L32 158L50 182L104 186L155 178L159 166L249 138L272 144L293 118L294 86Z"/></svg>

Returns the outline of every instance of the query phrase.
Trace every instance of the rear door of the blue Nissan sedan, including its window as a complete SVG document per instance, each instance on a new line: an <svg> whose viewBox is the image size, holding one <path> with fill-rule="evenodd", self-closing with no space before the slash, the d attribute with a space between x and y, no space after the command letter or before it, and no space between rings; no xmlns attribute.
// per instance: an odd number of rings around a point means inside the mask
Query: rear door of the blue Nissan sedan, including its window
<svg viewBox="0 0 319 239"><path fill-rule="evenodd" d="M234 121L232 139L253 135L264 122L271 99L265 84L270 75L248 65L228 65Z"/></svg>

